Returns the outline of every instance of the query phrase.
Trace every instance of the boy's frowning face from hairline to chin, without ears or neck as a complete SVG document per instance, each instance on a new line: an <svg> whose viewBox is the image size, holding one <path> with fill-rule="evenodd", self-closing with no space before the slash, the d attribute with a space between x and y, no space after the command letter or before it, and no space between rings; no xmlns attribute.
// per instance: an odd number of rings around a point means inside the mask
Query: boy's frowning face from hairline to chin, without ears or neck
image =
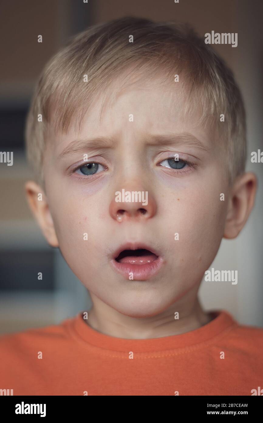
<svg viewBox="0 0 263 423"><path fill-rule="evenodd" d="M154 316L194 291L217 253L227 214L222 142L211 126L196 126L201 110L182 119L179 84L154 82L117 93L101 119L102 99L94 102L81 131L50 137L44 158L46 196L62 255L92 294L134 317ZM101 137L112 146L89 144ZM60 157L76 140L76 151ZM95 163L89 170L83 168L88 162ZM115 201L122 190L147 192L148 204ZM114 252L128 242L159 253L156 273L129 280L129 272L116 270Z"/></svg>

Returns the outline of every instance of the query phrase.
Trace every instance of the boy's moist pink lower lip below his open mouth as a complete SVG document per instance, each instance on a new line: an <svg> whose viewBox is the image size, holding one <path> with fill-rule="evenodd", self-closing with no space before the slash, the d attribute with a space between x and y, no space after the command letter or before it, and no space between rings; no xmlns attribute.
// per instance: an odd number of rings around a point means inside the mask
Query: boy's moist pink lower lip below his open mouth
<svg viewBox="0 0 263 423"><path fill-rule="evenodd" d="M127 280L147 280L160 270L163 265L163 258L158 257L156 260L145 264L119 263L116 260L111 260L111 265Z"/></svg>

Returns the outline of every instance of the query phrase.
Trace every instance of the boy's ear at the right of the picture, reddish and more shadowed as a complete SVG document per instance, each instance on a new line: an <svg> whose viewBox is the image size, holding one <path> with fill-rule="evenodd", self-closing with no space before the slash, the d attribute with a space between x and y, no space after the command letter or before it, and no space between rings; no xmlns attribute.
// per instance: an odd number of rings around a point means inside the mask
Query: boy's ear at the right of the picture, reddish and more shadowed
<svg viewBox="0 0 263 423"><path fill-rule="evenodd" d="M228 200L224 238L236 238L247 222L254 206L257 186L257 177L251 172L244 173L234 181Z"/></svg>

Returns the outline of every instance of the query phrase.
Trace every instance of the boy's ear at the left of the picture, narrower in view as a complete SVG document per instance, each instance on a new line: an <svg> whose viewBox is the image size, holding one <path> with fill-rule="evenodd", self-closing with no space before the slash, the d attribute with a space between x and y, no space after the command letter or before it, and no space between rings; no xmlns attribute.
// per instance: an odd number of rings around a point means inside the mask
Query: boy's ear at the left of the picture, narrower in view
<svg viewBox="0 0 263 423"><path fill-rule="evenodd" d="M52 247L58 247L57 235L54 228L53 219L49 210L46 195L43 188L34 181L27 181L25 191L28 204L35 219L42 230L47 242Z"/></svg>

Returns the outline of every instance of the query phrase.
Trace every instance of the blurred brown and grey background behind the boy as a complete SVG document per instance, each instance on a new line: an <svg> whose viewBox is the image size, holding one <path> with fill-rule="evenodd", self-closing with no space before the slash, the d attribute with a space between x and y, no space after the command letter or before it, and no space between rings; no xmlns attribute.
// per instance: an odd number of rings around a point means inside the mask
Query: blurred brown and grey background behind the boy
<svg viewBox="0 0 263 423"><path fill-rule="evenodd" d="M225 309L243 324L263 327L263 2L261 0L13 0L0 1L0 334L59 323L89 309L89 294L60 251L49 247L24 196L31 178L24 154L24 122L35 81L49 58L90 25L125 15L188 22L199 35L238 33L238 47L214 49L233 70L247 110L247 170L258 176L255 209L235 240L222 240L211 267L238 270L238 283L203 281L206 310ZM37 42L37 36L43 42ZM42 272L43 280L38 280Z"/></svg>

